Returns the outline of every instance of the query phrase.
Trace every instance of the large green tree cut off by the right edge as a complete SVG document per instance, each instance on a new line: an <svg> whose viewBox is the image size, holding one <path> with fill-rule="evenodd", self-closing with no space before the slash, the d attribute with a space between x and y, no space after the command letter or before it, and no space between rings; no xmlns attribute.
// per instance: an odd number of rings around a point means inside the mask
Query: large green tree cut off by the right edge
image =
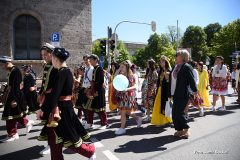
<svg viewBox="0 0 240 160"><path fill-rule="evenodd" d="M236 50L240 50L240 19L224 26L213 39L213 55L222 55L228 64L231 64L229 56Z"/></svg>

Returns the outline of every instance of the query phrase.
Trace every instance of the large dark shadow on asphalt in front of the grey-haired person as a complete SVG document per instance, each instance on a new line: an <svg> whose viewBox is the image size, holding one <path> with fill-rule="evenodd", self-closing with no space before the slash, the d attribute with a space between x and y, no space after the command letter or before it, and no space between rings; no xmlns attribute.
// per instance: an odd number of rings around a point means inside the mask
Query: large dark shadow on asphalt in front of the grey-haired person
<svg viewBox="0 0 240 160"><path fill-rule="evenodd" d="M164 151L167 149L166 147L164 147L165 144L172 143L178 140L180 140L180 138L175 138L172 135L167 135L150 139L141 139L139 141L130 141L126 144L120 145L119 148L114 150L114 152L146 153L154 151Z"/></svg>

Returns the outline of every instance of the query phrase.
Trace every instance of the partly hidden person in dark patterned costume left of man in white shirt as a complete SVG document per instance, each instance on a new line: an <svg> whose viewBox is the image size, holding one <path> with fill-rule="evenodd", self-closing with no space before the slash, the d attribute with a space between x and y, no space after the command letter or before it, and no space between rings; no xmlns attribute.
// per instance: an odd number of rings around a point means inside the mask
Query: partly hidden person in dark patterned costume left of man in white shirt
<svg viewBox="0 0 240 160"><path fill-rule="evenodd" d="M84 109L84 103L86 103L86 96L84 93L85 88L83 88L83 79L84 79L84 73L85 73L85 67L84 66L80 66L78 69L78 74L80 77L80 81L78 84L78 93L77 93L77 100L76 100L76 105L75 108L78 109L78 118L80 119L80 121L83 123L83 114L84 114L84 120L87 120L87 111ZM82 114L83 112L83 114Z"/></svg>

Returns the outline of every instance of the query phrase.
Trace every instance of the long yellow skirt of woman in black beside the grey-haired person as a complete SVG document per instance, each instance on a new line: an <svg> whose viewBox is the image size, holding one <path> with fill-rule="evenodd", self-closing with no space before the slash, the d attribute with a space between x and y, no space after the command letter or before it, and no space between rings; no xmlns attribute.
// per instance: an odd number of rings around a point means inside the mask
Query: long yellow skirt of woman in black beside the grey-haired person
<svg viewBox="0 0 240 160"><path fill-rule="evenodd" d="M171 122L172 118L168 118L165 115L161 114L161 87L159 87L154 102L151 123L156 126L163 126Z"/></svg>

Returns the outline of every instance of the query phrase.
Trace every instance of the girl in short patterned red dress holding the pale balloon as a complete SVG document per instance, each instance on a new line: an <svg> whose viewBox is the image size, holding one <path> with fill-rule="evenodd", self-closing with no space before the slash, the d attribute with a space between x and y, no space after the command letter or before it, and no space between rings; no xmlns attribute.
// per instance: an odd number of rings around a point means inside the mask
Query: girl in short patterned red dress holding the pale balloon
<svg viewBox="0 0 240 160"><path fill-rule="evenodd" d="M137 109L135 99L135 78L131 71L128 61L124 61L120 64L119 74L122 74L128 78L129 86L125 91L117 91L116 98L118 99L118 109L121 114L121 127L115 131L116 135L122 135L126 133L126 115L131 116L137 122L137 127L141 127L142 118L138 117L134 111Z"/></svg>

